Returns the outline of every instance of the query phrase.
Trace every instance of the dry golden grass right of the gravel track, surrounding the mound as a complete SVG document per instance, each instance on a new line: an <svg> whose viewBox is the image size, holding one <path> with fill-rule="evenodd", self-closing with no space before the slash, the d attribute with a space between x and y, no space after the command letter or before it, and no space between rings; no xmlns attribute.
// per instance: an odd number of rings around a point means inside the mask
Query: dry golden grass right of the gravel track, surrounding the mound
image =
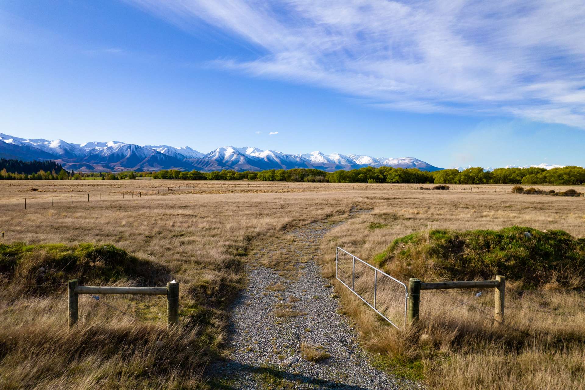
<svg viewBox="0 0 585 390"><path fill-rule="evenodd" d="M335 275L336 246L368 261L394 239L421 230L518 225L585 236L585 226L575 217L585 209L582 199L519 199L503 192L490 194L487 187L473 194L441 192L432 202L428 192L405 192L392 194L387 203L374 203L369 215L328 233L322 243L324 275ZM428 275L425 251L413 256L418 268L387 264L384 271L402 280ZM493 323L493 290L483 290L479 297L471 290L423 291L421 320L404 332L335 282L343 313L356 323L364 346L379 354L374 361L399 375L422 379L429 388L585 389L585 297L567 289L582 287L583 280L571 279L570 270L552 272L548 278L548 283L530 291L508 279L503 326ZM356 281L356 288L362 283Z"/></svg>

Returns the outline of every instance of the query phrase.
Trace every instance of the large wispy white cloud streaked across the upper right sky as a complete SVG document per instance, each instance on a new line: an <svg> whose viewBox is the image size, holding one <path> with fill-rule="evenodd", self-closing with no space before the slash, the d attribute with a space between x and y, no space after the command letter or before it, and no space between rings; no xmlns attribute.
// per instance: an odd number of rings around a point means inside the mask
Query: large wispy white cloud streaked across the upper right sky
<svg viewBox="0 0 585 390"><path fill-rule="evenodd" d="M583 0L126 0L256 46L216 65L335 88L387 109L585 128Z"/></svg>

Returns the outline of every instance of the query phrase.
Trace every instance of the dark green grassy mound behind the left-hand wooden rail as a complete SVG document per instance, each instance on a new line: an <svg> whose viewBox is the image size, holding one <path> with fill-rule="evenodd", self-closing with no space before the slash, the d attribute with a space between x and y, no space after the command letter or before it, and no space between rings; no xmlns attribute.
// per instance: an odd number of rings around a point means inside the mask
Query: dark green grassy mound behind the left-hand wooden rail
<svg viewBox="0 0 585 390"><path fill-rule="evenodd" d="M13 243L0 244L1 279L6 291L44 295L64 291L68 279L79 279L80 284L158 284L168 281L168 272L113 245Z"/></svg>

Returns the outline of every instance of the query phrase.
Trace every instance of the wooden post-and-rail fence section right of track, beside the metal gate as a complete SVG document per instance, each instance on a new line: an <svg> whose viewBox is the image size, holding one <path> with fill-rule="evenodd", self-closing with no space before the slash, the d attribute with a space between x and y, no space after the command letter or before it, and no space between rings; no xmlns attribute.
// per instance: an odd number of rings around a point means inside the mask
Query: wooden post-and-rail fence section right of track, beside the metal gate
<svg viewBox="0 0 585 390"><path fill-rule="evenodd" d="M506 278L497 275L495 280L456 281L423 283L421 279L410 278L408 284L407 319L409 323L417 322L419 318L421 290L441 290L450 288L494 288L494 322L499 325L504 322Z"/></svg>

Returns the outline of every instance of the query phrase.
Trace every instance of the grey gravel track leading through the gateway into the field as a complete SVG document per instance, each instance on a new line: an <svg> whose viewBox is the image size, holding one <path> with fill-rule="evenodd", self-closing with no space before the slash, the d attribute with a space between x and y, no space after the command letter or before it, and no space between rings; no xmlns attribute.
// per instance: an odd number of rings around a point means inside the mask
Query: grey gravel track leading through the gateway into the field
<svg viewBox="0 0 585 390"><path fill-rule="evenodd" d="M339 223L315 222L254 251L232 312L229 357L209 367L228 389L398 389L413 384L373 368L315 256ZM331 357L305 360L301 343ZM326 356L326 355L325 355Z"/></svg>

